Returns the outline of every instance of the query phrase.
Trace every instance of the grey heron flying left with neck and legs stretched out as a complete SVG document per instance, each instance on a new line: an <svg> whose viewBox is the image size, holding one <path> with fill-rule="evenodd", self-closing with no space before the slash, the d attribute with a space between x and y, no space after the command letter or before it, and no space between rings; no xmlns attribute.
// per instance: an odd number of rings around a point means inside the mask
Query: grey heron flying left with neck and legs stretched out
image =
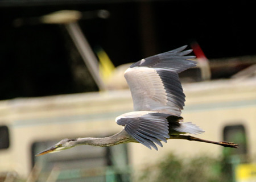
<svg viewBox="0 0 256 182"><path fill-rule="evenodd" d="M192 49L183 46L172 51L147 57L134 63L125 71L125 78L133 97L134 111L119 115L115 122L123 126L117 134L105 138L63 139L37 154L59 152L78 145L113 146L137 142L158 150L167 139L186 139L237 148L231 142L213 142L185 134L201 134L203 129L180 116L185 94L178 73L196 66L189 56Z"/></svg>

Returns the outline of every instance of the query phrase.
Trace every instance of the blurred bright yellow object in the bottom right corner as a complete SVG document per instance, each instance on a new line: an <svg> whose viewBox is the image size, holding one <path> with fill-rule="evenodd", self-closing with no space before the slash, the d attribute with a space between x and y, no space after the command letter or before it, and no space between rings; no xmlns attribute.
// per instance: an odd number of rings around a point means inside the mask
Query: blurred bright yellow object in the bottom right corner
<svg viewBox="0 0 256 182"><path fill-rule="evenodd" d="M236 168L236 181L256 181L256 164L239 164Z"/></svg>

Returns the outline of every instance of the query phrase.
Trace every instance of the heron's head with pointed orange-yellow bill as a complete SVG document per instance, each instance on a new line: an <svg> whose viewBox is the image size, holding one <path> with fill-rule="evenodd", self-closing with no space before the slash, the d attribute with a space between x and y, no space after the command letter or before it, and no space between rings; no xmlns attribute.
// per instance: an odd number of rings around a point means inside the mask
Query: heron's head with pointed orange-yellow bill
<svg viewBox="0 0 256 182"><path fill-rule="evenodd" d="M65 138L63 140L60 140L60 142L56 143L55 145L47 148L46 150L39 152L38 154L36 154L36 156L44 155L44 154L48 154L48 153L59 152L59 151L62 151L62 150L68 149L68 148L75 147L76 141L77 141L77 139Z"/></svg>

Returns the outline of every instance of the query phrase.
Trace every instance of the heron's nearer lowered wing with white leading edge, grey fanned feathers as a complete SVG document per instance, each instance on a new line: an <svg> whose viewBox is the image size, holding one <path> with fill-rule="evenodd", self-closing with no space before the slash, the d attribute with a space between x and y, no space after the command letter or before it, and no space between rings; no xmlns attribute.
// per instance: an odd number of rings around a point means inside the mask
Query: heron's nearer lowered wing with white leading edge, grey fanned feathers
<svg viewBox="0 0 256 182"><path fill-rule="evenodd" d="M167 142L168 121L170 114L157 113L152 111L135 111L117 117L118 125L125 126L125 131L138 142L151 149L158 150L155 143L163 147L160 142Z"/></svg>

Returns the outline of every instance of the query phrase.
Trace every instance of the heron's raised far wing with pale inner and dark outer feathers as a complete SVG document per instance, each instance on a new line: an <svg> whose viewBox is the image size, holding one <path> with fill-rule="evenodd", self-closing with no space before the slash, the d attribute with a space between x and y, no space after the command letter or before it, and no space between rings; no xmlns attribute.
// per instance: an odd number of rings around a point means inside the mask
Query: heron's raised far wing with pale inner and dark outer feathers
<svg viewBox="0 0 256 182"><path fill-rule="evenodd" d="M147 57L131 65L125 72L135 111L159 111L180 115L185 94L178 73L196 66L195 56L185 56L192 50L183 46Z"/></svg>

